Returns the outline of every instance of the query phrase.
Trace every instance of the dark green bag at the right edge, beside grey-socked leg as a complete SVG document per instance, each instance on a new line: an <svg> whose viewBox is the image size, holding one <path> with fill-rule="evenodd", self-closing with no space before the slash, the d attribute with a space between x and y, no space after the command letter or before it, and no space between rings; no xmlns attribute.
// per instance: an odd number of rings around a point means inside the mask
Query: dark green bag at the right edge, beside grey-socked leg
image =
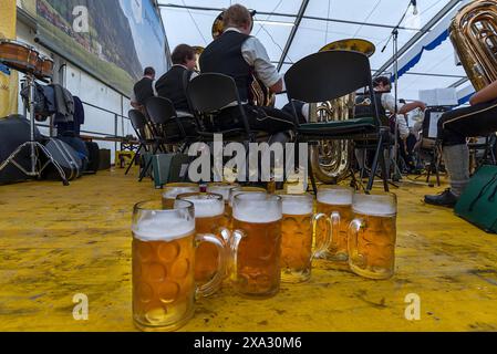
<svg viewBox="0 0 497 354"><path fill-rule="evenodd" d="M497 233L497 166L482 166L454 209L486 232Z"/></svg>

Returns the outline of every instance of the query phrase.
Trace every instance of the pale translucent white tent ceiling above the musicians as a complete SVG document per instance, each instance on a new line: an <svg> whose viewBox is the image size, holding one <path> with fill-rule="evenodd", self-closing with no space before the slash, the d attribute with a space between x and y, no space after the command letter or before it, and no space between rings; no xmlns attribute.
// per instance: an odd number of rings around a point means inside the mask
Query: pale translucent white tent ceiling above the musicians
<svg viewBox="0 0 497 354"><path fill-rule="evenodd" d="M302 0L159 0L168 42L177 44L207 45L211 41L211 25L219 9L239 2L257 10L253 34L266 45L275 64L282 60L289 43ZM398 30L398 48L402 48L428 23L451 0L417 0L418 14L412 7ZM319 51L323 45L345 38L366 39L376 45L371 58L373 70L382 67L393 55L389 41L392 29L398 23L410 6L410 0L310 0L300 25L283 59L281 72L292 63ZM423 33L423 32L422 32ZM449 86L466 74L455 64L451 41L446 40L422 60L398 82L400 96L415 100L418 90Z"/></svg>

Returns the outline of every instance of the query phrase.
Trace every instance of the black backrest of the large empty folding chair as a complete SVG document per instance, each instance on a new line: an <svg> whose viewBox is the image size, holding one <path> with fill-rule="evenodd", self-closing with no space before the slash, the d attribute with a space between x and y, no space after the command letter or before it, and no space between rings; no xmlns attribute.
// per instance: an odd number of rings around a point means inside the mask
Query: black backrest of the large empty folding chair
<svg viewBox="0 0 497 354"><path fill-rule="evenodd" d="M311 54L288 70L284 82L292 100L308 103L339 98L366 86L373 92L367 56L351 51Z"/></svg>

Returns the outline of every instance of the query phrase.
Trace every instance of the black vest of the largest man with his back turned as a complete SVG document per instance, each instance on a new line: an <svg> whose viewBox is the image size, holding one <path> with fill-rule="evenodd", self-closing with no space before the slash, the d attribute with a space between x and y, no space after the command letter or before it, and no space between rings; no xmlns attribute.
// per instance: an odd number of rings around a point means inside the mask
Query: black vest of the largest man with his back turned
<svg viewBox="0 0 497 354"><path fill-rule="evenodd" d="M210 43L200 56L203 73L220 73L231 76L238 87L240 100L249 100L252 70L241 54L241 46L250 35L229 31Z"/></svg>

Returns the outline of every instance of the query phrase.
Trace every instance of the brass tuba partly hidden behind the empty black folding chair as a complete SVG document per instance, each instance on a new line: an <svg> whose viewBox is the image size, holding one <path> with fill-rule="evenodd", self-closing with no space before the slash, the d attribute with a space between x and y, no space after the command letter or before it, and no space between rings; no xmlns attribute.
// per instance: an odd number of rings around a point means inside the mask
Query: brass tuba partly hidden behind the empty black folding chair
<svg viewBox="0 0 497 354"><path fill-rule="evenodd" d="M332 50L355 51L372 56L376 49L369 41L349 39L330 43L320 52ZM366 102L361 104L367 105ZM351 119L354 117L354 108L355 93L351 93L333 101L311 104L309 121L319 123ZM349 140L322 140L311 146L310 159L315 177L324 184L336 184L344 179L349 171L352 153L352 144Z"/></svg>

